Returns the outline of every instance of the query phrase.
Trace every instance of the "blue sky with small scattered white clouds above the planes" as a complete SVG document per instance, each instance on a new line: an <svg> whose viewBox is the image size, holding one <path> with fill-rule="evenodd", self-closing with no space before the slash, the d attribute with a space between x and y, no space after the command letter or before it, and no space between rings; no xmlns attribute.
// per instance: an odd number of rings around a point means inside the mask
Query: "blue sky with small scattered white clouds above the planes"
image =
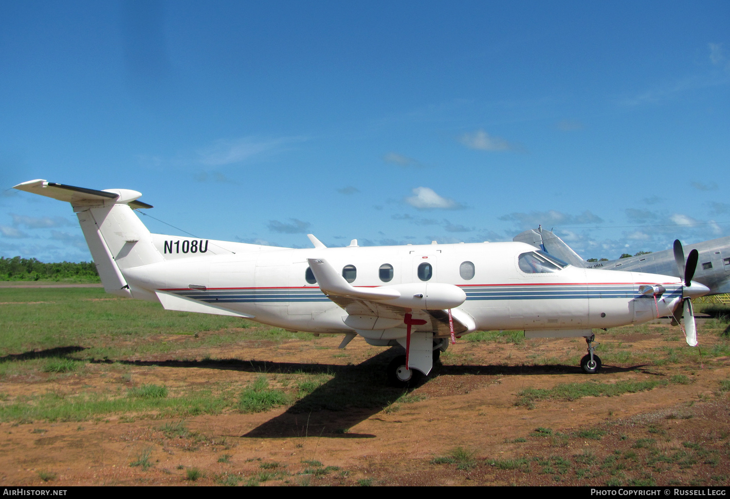
<svg viewBox="0 0 730 499"><path fill-rule="evenodd" d="M618 258L725 236L729 20L726 1L1 1L0 256L91 259L68 204L5 190L37 178L289 247L541 223Z"/></svg>

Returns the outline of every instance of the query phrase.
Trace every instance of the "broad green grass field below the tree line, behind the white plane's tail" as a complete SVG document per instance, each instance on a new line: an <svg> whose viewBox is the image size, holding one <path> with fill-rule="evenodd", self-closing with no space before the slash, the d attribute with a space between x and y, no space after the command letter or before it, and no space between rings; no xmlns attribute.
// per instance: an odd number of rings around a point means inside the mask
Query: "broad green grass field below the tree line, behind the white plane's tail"
<svg viewBox="0 0 730 499"><path fill-rule="evenodd" d="M310 333L259 326L238 317L164 310L159 303L118 298L93 287L2 288L0 302L10 303L2 306L0 363L14 360L12 355L33 358L60 347L79 347L66 355L74 360L114 360L220 347L241 339L313 338ZM209 331L215 334L195 337ZM165 341L164 336L181 340Z"/></svg>

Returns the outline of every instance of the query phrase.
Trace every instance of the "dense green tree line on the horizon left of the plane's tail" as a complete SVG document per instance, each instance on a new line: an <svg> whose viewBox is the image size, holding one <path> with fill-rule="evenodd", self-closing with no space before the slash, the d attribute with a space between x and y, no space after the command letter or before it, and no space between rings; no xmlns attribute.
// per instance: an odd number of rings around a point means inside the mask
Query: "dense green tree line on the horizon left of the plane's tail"
<svg viewBox="0 0 730 499"><path fill-rule="evenodd" d="M43 263L36 258L0 257L0 281L69 279L99 282L99 272L93 262Z"/></svg>

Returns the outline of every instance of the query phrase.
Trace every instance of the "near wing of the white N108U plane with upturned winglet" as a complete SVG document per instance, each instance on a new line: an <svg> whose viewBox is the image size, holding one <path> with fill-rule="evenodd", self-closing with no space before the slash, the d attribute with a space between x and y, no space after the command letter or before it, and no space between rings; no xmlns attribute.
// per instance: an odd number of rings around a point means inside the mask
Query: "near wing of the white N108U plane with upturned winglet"
<svg viewBox="0 0 730 499"><path fill-rule="evenodd" d="M447 310L419 309L400 306L392 303L382 303L383 300L394 298L396 291L381 287L354 287L339 275L326 261L310 261L310 268L315 275L320 290L327 297L337 303L347 312L345 324L360 330L379 330L390 328L405 328L405 314L412 314L414 319L426 320L425 326L418 326L419 330L431 330L434 337L450 335L449 317ZM466 312L452 309L454 333L457 335L475 330L474 319Z"/></svg>

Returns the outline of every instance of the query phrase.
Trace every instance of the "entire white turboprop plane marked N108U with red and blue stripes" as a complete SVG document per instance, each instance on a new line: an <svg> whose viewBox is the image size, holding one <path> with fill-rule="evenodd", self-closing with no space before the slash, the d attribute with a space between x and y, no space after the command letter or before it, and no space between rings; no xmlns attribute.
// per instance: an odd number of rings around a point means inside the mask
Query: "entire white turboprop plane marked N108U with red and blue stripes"
<svg viewBox="0 0 730 499"><path fill-rule="evenodd" d="M245 317L312 333L360 335L406 355L392 384L428 375L449 342L475 330L523 329L526 338L585 337L587 373L601 368L593 328L647 322L683 308L697 344L690 298L709 290L685 279L571 266L523 242L292 249L153 234L135 190L93 190L45 180L15 186L72 204L107 293L168 310Z"/></svg>

